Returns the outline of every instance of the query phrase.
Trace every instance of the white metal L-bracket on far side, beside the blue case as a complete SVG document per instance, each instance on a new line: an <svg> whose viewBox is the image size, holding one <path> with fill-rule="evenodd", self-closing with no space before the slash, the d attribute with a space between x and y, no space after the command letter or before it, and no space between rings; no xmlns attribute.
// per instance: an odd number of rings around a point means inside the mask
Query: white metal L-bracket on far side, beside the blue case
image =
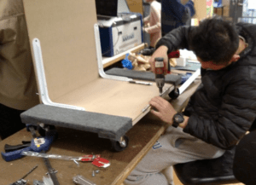
<svg viewBox="0 0 256 185"><path fill-rule="evenodd" d="M125 81L129 82L132 80L132 78L126 78L126 77L119 77L114 75L108 75L103 70L103 63L102 63L102 47L101 47L101 38L100 38L100 32L99 32L99 26L97 24L94 25L94 34L95 34L95 42L96 42L96 55L97 55L97 62L98 62L98 69L99 74L102 78L107 79L114 79L119 81Z"/></svg>

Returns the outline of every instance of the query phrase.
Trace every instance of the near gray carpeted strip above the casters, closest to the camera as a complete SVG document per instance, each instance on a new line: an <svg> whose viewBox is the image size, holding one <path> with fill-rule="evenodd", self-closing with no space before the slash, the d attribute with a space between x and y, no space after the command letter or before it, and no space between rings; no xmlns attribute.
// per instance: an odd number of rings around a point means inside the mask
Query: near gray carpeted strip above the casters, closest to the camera
<svg viewBox="0 0 256 185"><path fill-rule="evenodd" d="M61 126L97 133L99 137L118 141L131 129L131 118L90 113L39 104L20 114L22 123Z"/></svg>

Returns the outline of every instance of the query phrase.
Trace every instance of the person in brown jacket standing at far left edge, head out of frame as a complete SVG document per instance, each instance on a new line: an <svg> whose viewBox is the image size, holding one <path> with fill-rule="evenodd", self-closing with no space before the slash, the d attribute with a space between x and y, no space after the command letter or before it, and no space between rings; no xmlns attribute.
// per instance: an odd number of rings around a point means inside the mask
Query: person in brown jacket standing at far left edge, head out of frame
<svg viewBox="0 0 256 185"><path fill-rule="evenodd" d="M0 136L25 127L20 113L39 103L22 0L0 1Z"/></svg>

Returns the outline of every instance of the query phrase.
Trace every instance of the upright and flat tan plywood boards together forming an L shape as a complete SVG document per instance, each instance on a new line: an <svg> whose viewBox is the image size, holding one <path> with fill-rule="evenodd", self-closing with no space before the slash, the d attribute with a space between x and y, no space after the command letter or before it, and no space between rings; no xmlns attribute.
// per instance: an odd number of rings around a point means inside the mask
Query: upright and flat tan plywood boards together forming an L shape
<svg viewBox="0 0 256 185"><path fill-rule="evenodd" d="M133 124L143 117L143 107L159 95L159 90L155 84L145 86L99 77L94 1L24 0L24 7L30 43L33 38L41 43L51 101L129 117ZM166 84L165 88L173 86Z"/></svg>

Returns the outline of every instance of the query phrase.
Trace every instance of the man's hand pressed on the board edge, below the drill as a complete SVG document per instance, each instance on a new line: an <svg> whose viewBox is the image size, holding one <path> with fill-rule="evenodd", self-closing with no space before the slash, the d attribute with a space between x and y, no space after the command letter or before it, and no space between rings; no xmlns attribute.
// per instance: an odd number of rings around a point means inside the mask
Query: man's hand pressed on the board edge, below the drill
<svg viewBox="0 0 256 185"><path fill-rule="evenodd" d="M160 118L167 124L172 125L173 116L177 113L177 111L175 111L171 103L169 103L160 96L155 96L151 99L151 101L149 101L149 104L151 105L151 107L154 107L156 109L156 111L154 109L151 109L151 113L153 113L156 117Z"/></svg>

